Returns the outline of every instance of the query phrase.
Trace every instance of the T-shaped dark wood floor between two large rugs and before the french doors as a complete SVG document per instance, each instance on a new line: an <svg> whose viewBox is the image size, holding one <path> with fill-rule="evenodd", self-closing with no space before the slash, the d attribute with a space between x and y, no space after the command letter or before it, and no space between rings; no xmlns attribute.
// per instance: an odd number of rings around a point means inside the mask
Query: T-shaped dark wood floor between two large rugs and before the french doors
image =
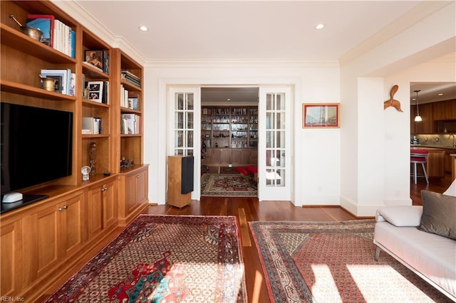
<svg viewBox="0 0 456 303"><path fill-rule="evenodd" d="M321 220L339 221L356 219L339 207L296 207L289 202L261 201L257 198L202 197L190 206L179 209L170 206L152 206L150 214L167 215L222 215L237 216L241 228L242 255L249 302L270 302L259 262L257 248L249 231L249 222L257 220Z"/></svg>

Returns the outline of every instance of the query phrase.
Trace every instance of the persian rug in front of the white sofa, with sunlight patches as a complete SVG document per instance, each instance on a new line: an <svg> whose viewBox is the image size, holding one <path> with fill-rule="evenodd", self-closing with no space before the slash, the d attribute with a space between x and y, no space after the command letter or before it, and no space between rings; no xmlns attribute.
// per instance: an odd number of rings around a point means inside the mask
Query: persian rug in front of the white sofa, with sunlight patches
<svg viewBox="0 0 456 303"><path fill-rule="evenodd" d="M250 222L271 302L451 302L380 252L374 220Z"/></svg>

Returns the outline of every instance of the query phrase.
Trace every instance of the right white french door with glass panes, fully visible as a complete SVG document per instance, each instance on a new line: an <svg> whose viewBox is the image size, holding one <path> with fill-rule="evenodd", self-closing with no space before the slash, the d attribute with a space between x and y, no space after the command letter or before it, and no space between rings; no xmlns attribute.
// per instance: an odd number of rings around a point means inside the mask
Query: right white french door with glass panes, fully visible
<svg viewBox="0 0 456 303"><path fill-rule="evenodd" d="M259 88L259 200L291 201L291 88Z"/></svg>

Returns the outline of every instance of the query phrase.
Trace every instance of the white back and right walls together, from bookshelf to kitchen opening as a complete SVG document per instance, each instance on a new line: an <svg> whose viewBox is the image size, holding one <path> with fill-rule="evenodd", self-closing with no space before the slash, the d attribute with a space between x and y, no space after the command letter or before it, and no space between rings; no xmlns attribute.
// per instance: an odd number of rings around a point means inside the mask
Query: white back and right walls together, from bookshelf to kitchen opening
<svg viewBox="0 0 456 303"><path fill-rule="evenodd" d="M144 159L150 164L150 201L166 201L167 85L291 84L296 89L295 205L340 203L356 216L373 216L385 204L410 204L408 83L421 80L400 73L455 52L454 26L442 26L454 23L453 2L340 70L334 63L302 62L146 65ZM454 72L452 65L440 68ZM383 110L395 84L404 112ZM341 129L302 129L304 102L340 102Z"/></svg>

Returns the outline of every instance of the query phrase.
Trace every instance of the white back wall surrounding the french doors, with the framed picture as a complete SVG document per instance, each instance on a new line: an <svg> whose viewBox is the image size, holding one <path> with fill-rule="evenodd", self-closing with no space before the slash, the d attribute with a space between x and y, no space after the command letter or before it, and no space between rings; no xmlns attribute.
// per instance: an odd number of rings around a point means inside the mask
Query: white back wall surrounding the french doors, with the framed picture
<svg viewBox="0 0 456 303"><path fill-rule="evenodd" d="M293 85L296 92L291 112L294 119L293 201L296 205L338 204L340 130L302 129L301 120L304 102L338 102L338 64L233 65L146 66L144 161L150 164L150 202L163 204L166 201L167 85Z"/></svg>

